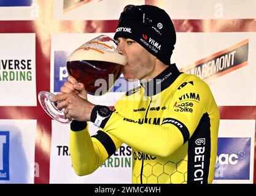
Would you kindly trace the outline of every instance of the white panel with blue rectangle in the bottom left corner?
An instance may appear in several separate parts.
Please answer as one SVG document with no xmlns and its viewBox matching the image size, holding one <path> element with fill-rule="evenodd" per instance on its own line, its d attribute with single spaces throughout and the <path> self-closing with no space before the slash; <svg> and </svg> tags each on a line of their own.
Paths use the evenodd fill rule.
<svg viewBox="0 0 256 196">
<path fill-rule="evenodd" d="M 36 120 L 0 119 L 0 183 L 34 183 L 35 141 Z"/>
</svg>

